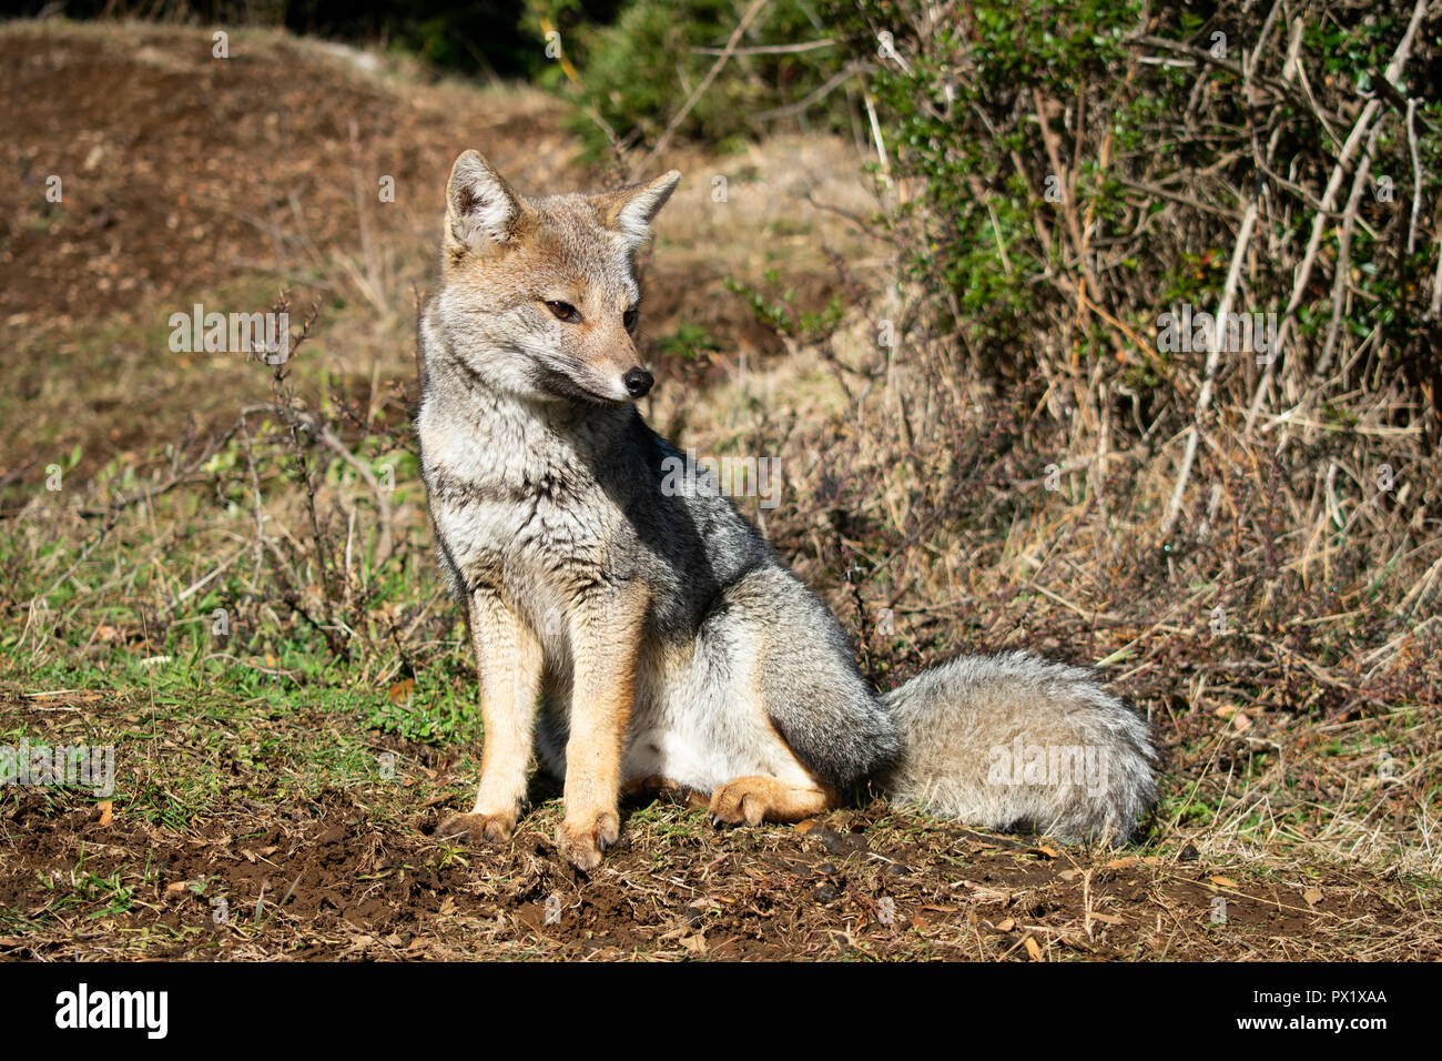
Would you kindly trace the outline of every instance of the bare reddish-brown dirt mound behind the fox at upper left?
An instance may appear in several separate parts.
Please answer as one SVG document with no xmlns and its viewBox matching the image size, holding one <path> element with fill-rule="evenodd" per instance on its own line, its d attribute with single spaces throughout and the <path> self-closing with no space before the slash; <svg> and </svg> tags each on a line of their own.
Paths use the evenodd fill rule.
<svg viewBox="0 0 1442 1061">
<path fill-rule="evenodd" d="M 183 303 L 273 256 L 324 256 L 355 238 L 358 196 L 378 201 L 382 176 L 398 202 L 438 211 L 461 143 L 528 176 L 557 169 L 557 108 L 539 95 L 457 105 L 274 33 L 232 36 L 229 58 L 193 30 L 117 33 L 0 33 L 0 179 L 20 189 L 0 217 L 12 325 Z"/>
</svg>

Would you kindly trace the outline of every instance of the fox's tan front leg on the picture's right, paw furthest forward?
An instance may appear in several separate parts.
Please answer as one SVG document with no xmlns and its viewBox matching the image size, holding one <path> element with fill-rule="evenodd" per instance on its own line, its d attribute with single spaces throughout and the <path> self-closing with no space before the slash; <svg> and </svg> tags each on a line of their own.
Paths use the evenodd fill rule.
<svg viewBox="0 0 1442 1061">
<path fill-rule="evenodd" d="M 565 818 L 557 847 L 596 869 L 620 837 L 622 742 L 636 699 L 636 664 L 649 595 L 640 583 L 590 589 L 571 612 L 571 735 L 565 745 Z"/>
</svg>

